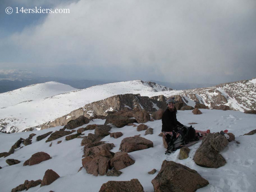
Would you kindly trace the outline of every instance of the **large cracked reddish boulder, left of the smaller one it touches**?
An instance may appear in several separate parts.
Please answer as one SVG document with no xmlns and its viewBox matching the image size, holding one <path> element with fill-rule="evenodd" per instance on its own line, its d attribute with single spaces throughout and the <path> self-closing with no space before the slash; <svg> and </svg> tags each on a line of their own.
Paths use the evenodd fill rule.
<svg viewBox="0 0 256 192">
<path fill-rule="evenodd" d="M 110 160 L 113 158 L 113 153 L 102 149 L 100 153 L 92 156 L 86 156 L 82 159 L 83 167 L 90 174 L 95 176 L 106 175 L 108 169 L 110 169 Z"/>
</svg>

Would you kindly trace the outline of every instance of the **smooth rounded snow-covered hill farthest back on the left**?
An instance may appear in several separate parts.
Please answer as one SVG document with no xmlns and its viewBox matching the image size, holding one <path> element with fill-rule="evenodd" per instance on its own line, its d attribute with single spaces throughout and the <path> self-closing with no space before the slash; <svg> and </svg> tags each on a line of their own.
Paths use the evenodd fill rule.
<svg viewBox="0 0 256 192">
<path fill-rule="evenodd" d="M 33 84 L 13 91 L 1 93 L 0 108 L 16 105 L 25 101 L 40 100 L 75 90 L 77 89 L 74 87 L 58 82 Z"/>
</svg>

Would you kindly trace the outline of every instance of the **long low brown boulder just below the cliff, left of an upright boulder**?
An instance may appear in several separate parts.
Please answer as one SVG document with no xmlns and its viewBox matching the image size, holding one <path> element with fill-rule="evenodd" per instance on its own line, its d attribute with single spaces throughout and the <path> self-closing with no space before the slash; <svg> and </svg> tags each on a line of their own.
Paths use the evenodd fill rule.
<svg viewBox="0 0 256 192">
<path fill-rule="evenodd" d="M 116 125 L 116 127 L 121 128 L 127 124 L 136 123 L 136 120 L 128 117 L 122 117 L 122 116 L 116 116 L 116 115 L 110 114 L 107 116 L 104 124 L 107 125 L 109 123 Z"/>
</svg>

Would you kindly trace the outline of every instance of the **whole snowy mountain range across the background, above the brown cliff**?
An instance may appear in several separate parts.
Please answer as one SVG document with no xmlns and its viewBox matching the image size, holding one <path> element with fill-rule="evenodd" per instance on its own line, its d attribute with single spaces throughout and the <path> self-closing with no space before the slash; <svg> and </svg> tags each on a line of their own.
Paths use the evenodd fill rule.
<svg viewBox="0 0 256 192">
<path fill-rule="evenodd" d="M 243 112 L 256 109 L 255 90 L 255 78 L 208 88 L 179 91 L 141 80 L 96 85 L 82 90 L 57 82 L 49 82 L 1 93 L 0 100 L 4 102 L 0 102 L 0 127 L 1 131 L 20 132 L 54 121 L 75 109 L 83 108 L 86 104 L 127 93 L 151 98 L 159 95 L 164 95 L 166 98 L 178 95 L 184 103 L 192 107 L 196 103 L 205 104 L 209 108 L 227 105 L 232 110 Z M 152 105 L 155 106 L 156 103 Z"/>
</svg>

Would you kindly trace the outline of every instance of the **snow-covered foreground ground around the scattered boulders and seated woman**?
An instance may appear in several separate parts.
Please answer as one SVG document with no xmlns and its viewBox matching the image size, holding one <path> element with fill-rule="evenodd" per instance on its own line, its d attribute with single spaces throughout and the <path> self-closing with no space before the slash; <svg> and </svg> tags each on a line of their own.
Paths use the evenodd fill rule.
<svg viewBox="0 0 256 192">
<path fill-rule="evenodd" d="M 256 129 L 255 115 L 244 114 L 238 111 L 222 111 L 213 109 L 200 109 L 202 115 L 194 115 L 191 110 L 178 111 L 178 120 L 185 125 L 195 122 L 193 125 L 198 130 L 210 129 L 211 132 L 219 132 L 221 130 L 228 129 L 228 132 L 232 132 L 236 136 L 236 142 L 229 142 L 228 146 L 220 152 L 220 154 L 226 159 L 227 164 L 218 169 L 204 168 L 196 165 L 193 161 L 194 152 L 199 147 L 199 143 L 189 147 L 191 149 L 189 158 L 185 160 L 179 160 L 179 150 L 170 155 L 164 155 L 164 147 L 162 144 L 162 138 L 158 136 L 161 132 L 161 120 L 155 120 L 154 122 L 145 123 L 148 127 L 154 129 L 153 135 L 144 135 L 145 131 L 138 132 L 136 127 L 125 126 L 123 128 L 116 128 L 112 125 L 110 132 L 123 132 L 123 136 L 114 139 L 106 136 L 104 141 L 114 143 L 114 147 L 111 151 L 119 151 L 121 140 L 125 137 L 134 135 L 141 135 L 154 143 L 153 148 L 144 149 L 140 151 L 134 151 L 129 153 L 132 159 L 135 160 L 135 164 L 126 167 L 120 171 L 123 173 L 119 177 L 98 176 L 95 177 L 88 174 L 83 168 L 80 172 L 77 172 L 82 166 L 83 147 L 80 146 L 82 139 L 74 139 L 66 141 L 65 137 L 52 141 L 52 147 L 49 147 L 50 142 L 45 143 L 44 140 L 36 141 L 36 136 L 42 135 L 49 131 L 59 130 L 63 126 L 54 127 L 41 131 L 33 132 L 19 132 L 12 134 L 4 134 L 0 132 L 0 152 L 8 152 L 11 146 L 20 137 L 26 139 L 31 133 L 36 133 L 36 136 L 32 139 L 32 144 L 18 148 L 14 154 L 0 158 L 0 186 L 1 191 L 10 192 L 12 188 L 23 184 L 25 180 L 37 180 L 43 179 L 44 172 L 47 169 L 52 169 L 60 175 L 60 178 L 54 181 L 51 185 L 43 187 L 30 188 L 28 192 L 49 192 L 52 191 L 92 191 L 97 192 L 103 183 L 109 180 L 116 181 L 130 181 L 131 179 L 138 179 L 142 184 L 145 192 L 153 192 L 153 180 L 157 173 L 160 171 L 161 164 L 164 160 L 175 161 L 180 164 L 184 164 L 191 169 L 196 170 L 204 179 L 209 181 L 209 185 L 198 189 L 197 192 L 253 192 L 256 191 L 255 182 L 255 170 L 256 170 L 256 134 L 252 136 L 240 136 L 244 133 L 248 133 Z M 104 124 L 105 120 L 96 119 L 89 124 Z M 82 126 L 85 127 L 86 125 Z M 75 130 L 77 130 L 76 128 Z M 84 134 L 94 133 L 94 130 L 85 131 Z M 58 141 L 62 140 L 60 144 Z M 21 144 L 22 146 L 22 144 Z M 52 159 L 44 161 L 40 164 L 32 166 L 23 166 L 25 160 L 31 157 L 36 152 L 46 152 Z M 8 166 L 5 163 L 7 158 L 18 159 L 20 164 Z M 157 172 L 154 175 L 149 175 L 148 172 L 152 169 L 156 169 Z"/>
</svg>

